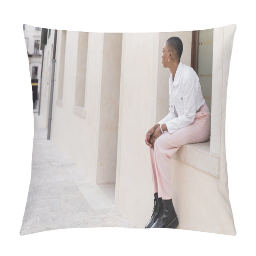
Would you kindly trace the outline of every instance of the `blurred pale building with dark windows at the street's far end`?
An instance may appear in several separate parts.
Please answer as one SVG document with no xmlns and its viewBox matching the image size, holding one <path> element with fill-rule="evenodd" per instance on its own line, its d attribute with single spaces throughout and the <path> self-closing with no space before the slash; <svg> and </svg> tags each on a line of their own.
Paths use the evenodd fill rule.
<svg viewBox="0 0 256 256">
<path fill-rule="evenodd" d="M 25 44 L 28 52 L 29 72 L 33 90 L 33 102 L 38 99 L 42 68 L 41 28 L 23 24 Z"/>
</svg>

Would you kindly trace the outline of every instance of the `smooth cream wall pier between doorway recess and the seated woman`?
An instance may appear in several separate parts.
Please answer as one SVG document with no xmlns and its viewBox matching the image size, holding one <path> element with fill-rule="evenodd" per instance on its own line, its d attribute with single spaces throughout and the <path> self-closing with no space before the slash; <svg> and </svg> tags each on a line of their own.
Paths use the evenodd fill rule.
<svg viewBox="0 0 256 256">
<path fill-rule="evenodd" d="M 157 57 L 152 53 L 157 53 L 157 39 L 154 33 L 123 36 L 116 203 L 139 227 L 145 211 L 152 211 L 149 148 L 144 138 L 151 125 L 151 91 L 156 87 L 153 66 Z M 156 104 L 156 100 L 152 102 Z"/>
</svg>

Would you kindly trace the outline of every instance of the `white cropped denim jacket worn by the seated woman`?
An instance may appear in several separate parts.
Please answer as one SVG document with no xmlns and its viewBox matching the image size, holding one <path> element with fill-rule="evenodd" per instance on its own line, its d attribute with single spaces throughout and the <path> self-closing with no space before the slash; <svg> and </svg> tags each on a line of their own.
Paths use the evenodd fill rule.
<svg viewBox="0 0 256 256">
<path fill-rule="evenodd" d="M 196 111 L 204 105 L 204 97 L 199 78 L 193 68 L 181 61 L 173 79 L 169 78 L 169 114 L 158 124 L 166 124 L 168 132 L 185 127 L 194 122 Z M 176 116 L 174 107 L 176 109 Z M 178 115 L 177 115 L 178 114 Z"/>
</svg>

